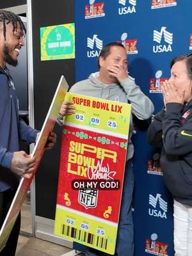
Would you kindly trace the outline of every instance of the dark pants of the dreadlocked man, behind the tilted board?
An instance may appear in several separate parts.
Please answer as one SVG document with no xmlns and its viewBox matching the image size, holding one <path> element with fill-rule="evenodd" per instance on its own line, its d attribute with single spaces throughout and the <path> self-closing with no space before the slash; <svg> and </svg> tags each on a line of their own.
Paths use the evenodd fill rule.
<svg viewBox="0 0 192 256">
<path fill-rule="evenodd" d="M 13 197 L 15 196 L 16 189 L 9 189 L 0 193 L 0 226 L 3 225 L 4 218 L 8 210 L 10 209 L 10 205 L 12 204 Z M 6 246 L 0 252 L 0 256 L 14 256 L 17 248 L 17 241 L 19 237 L 20 231 L 20 213 L 17 216 L 15 224 L 13 226 L 12 232 Z"/>
</svg>

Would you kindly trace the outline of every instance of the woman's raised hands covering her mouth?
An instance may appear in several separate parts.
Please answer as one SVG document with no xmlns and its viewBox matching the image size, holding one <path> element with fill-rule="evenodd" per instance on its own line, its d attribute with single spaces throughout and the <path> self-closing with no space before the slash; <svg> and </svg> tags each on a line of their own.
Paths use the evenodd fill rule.
<svg viewBox="0 0 192 256">
<path fill-rule="evenodd" d="M 170 102 L 184 104 L 185 91 L 182 88 L 178 90 L 173 84 L 166 80 L 163 82 L 161 90 L 163 92 L 164 106 Z"/>
</svg>

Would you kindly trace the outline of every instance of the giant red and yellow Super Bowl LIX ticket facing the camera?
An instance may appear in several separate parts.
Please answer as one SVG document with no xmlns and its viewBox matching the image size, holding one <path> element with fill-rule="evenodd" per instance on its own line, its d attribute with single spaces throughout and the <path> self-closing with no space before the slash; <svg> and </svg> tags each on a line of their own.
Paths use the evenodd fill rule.
<svg viewBox="0 0 192 256">
<path fill-rule="evenodd" d="M 131 105 L 67 93 L 54 233 L 115 252 Z"/>
</svg>

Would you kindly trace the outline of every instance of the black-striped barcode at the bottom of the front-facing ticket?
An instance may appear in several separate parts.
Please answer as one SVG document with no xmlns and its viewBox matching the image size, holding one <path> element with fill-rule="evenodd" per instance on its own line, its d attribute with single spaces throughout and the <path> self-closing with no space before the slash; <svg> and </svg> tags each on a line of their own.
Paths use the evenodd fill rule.
<svg viewBox="0 0 192 256">
<path fill-rule="evenodd" d="M 90 232 L 86 232 L 78 228 L 70 227 L 65 224 L 63 224 L 63 228 L 61 232 L 64 236 L 77 239 L 84 243 L 92 244 L 93 246 L 96 246 L 98 248 L 102 248 L 104 250 L 107 250 L 108 248 L 108 239 L 102 236 L 97 236 Z"/>
</svg>

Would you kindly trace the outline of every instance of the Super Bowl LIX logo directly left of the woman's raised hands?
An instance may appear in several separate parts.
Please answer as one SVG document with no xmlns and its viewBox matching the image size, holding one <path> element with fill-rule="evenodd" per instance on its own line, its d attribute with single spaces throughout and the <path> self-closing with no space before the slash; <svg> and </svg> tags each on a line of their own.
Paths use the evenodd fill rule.
<svg viewBox="0 0 192 256">
<path fill-rule="evenodd" d="M 156 78 L 150 78 L 150 93 L 161 93 L 161 85 L 165 80 L 168 80 L 168 78 L 161 77 L 163 75 L 162 70 L 157 70 L 155 77 Z"/>
</svg>

